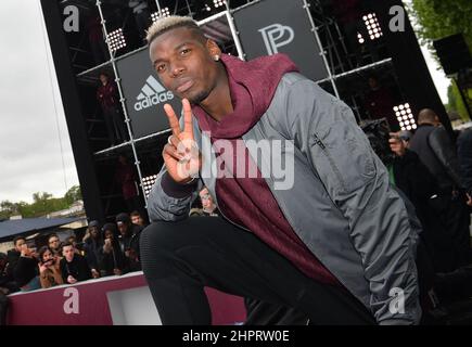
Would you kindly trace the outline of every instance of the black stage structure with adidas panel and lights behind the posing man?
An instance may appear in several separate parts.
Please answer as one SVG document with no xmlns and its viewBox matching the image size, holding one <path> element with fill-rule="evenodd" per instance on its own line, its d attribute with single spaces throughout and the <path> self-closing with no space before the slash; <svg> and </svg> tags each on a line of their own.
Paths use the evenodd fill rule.
<svg viewBox="0 0 472 347">
<path fill-rule="evenodd" d="M 397 129 L 414 130 L 414 115 L 428 106 L 450 129 L 408 17 L 405 31 L 388 29 L 390 9 L 403 9 L 399 0 L 359 0 L 355 9 L 335 0 L 143 3 L 138 15 L 128 1 L 41 0 L 85 206 L 92 219 L 112 220 L 129 209 L 116 179 L 119 155 L 128 156 L 136 168 L 142 209 L 163 165 L 161 152 L 169 129 L 162 105 L 180 110 L 180 101 L 153 70 L 142 26 L 170 14 L 192 16 L 225 53 L 240 59 L 288 54 L 304 75 L 353 107 L 359 123 L 383 116 Z M 63 29 L 68 7 L 79 11 L 78 31 Z M 97 101 L 101 73 L 116 83 L 128 137 L 115 145 Z M 377 87 L 373 81 L 369 87 L 371 79 Z M 375 105 L 379 90 L 387 91 L 380 99 L 383 108 Z"/>
</svg>

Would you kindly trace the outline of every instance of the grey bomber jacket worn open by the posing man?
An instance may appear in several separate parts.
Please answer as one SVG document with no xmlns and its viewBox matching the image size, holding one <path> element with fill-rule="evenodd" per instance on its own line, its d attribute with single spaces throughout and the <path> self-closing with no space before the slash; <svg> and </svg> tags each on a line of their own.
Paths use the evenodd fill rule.
<svg viewBox="0 0 472 347">
<path fill-rule="evenodd" d="M 199 146 L 211 147 L 195 117 L 193 126 Z M 409 218 L 350 108 L 301 74 L 289 73 L 242 138 L 259 171 L 269 172 L 265 179 L 293 230 L 378 323 L 418 324 L 414 257 L 421 227 Z M 270 170 L 278 158 L 257 151 L 260 140 L 284 143 L 282 156 L 293 158 L 291 179 L 282 182 Z M 179 197 L 162 189 L 163 178 L 169 179 L 164 165 L 148 198 L 152 221 L 188 218 L 203 184 L 218 202 L 215 153 L 202 156 L 199 184 Z"/>
</svg>

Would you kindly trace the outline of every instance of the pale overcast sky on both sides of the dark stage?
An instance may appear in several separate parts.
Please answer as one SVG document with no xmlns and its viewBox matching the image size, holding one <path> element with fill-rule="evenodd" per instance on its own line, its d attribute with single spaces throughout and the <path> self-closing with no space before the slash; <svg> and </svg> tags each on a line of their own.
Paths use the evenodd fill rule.
<svg viewBox="0 0 472 347">
<path fill-rule="evenodd" d="M 422 51 L 447 102 L 449 81 Z M 0 56 L 0 202 L 61 197 L 78 177 L 39 0 L 1 1 Z"/>
</svg>

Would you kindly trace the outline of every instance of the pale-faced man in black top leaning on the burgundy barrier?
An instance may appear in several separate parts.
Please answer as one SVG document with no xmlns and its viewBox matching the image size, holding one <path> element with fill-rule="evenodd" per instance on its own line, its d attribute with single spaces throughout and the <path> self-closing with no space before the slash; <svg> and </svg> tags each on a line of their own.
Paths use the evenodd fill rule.
<svg viewBox="0 0 472 347">
<path fill-rule="evenodd" d="M 86 258 L 75 253 L 73 244 L 64 243 L 62 254 L 64 258 L 61 259 L 60 266 L 64 283 L 74 284 L 92 278 Z"/>
</svg>

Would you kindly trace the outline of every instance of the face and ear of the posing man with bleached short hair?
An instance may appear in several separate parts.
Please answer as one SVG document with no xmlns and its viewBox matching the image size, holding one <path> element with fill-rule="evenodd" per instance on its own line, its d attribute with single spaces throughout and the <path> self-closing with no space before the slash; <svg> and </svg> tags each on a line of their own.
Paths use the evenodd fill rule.
<svg viewBox="0 0 472 347">
<path fill-rule="evenodd" d="M 163 85 L 193 104 L 216 87 L 218 65 L 213 55 L 220 53 L 216 43 L 203 42 L 186 27 L 162 34 L 150 46 L 151 62 Z"/>
</svg>

